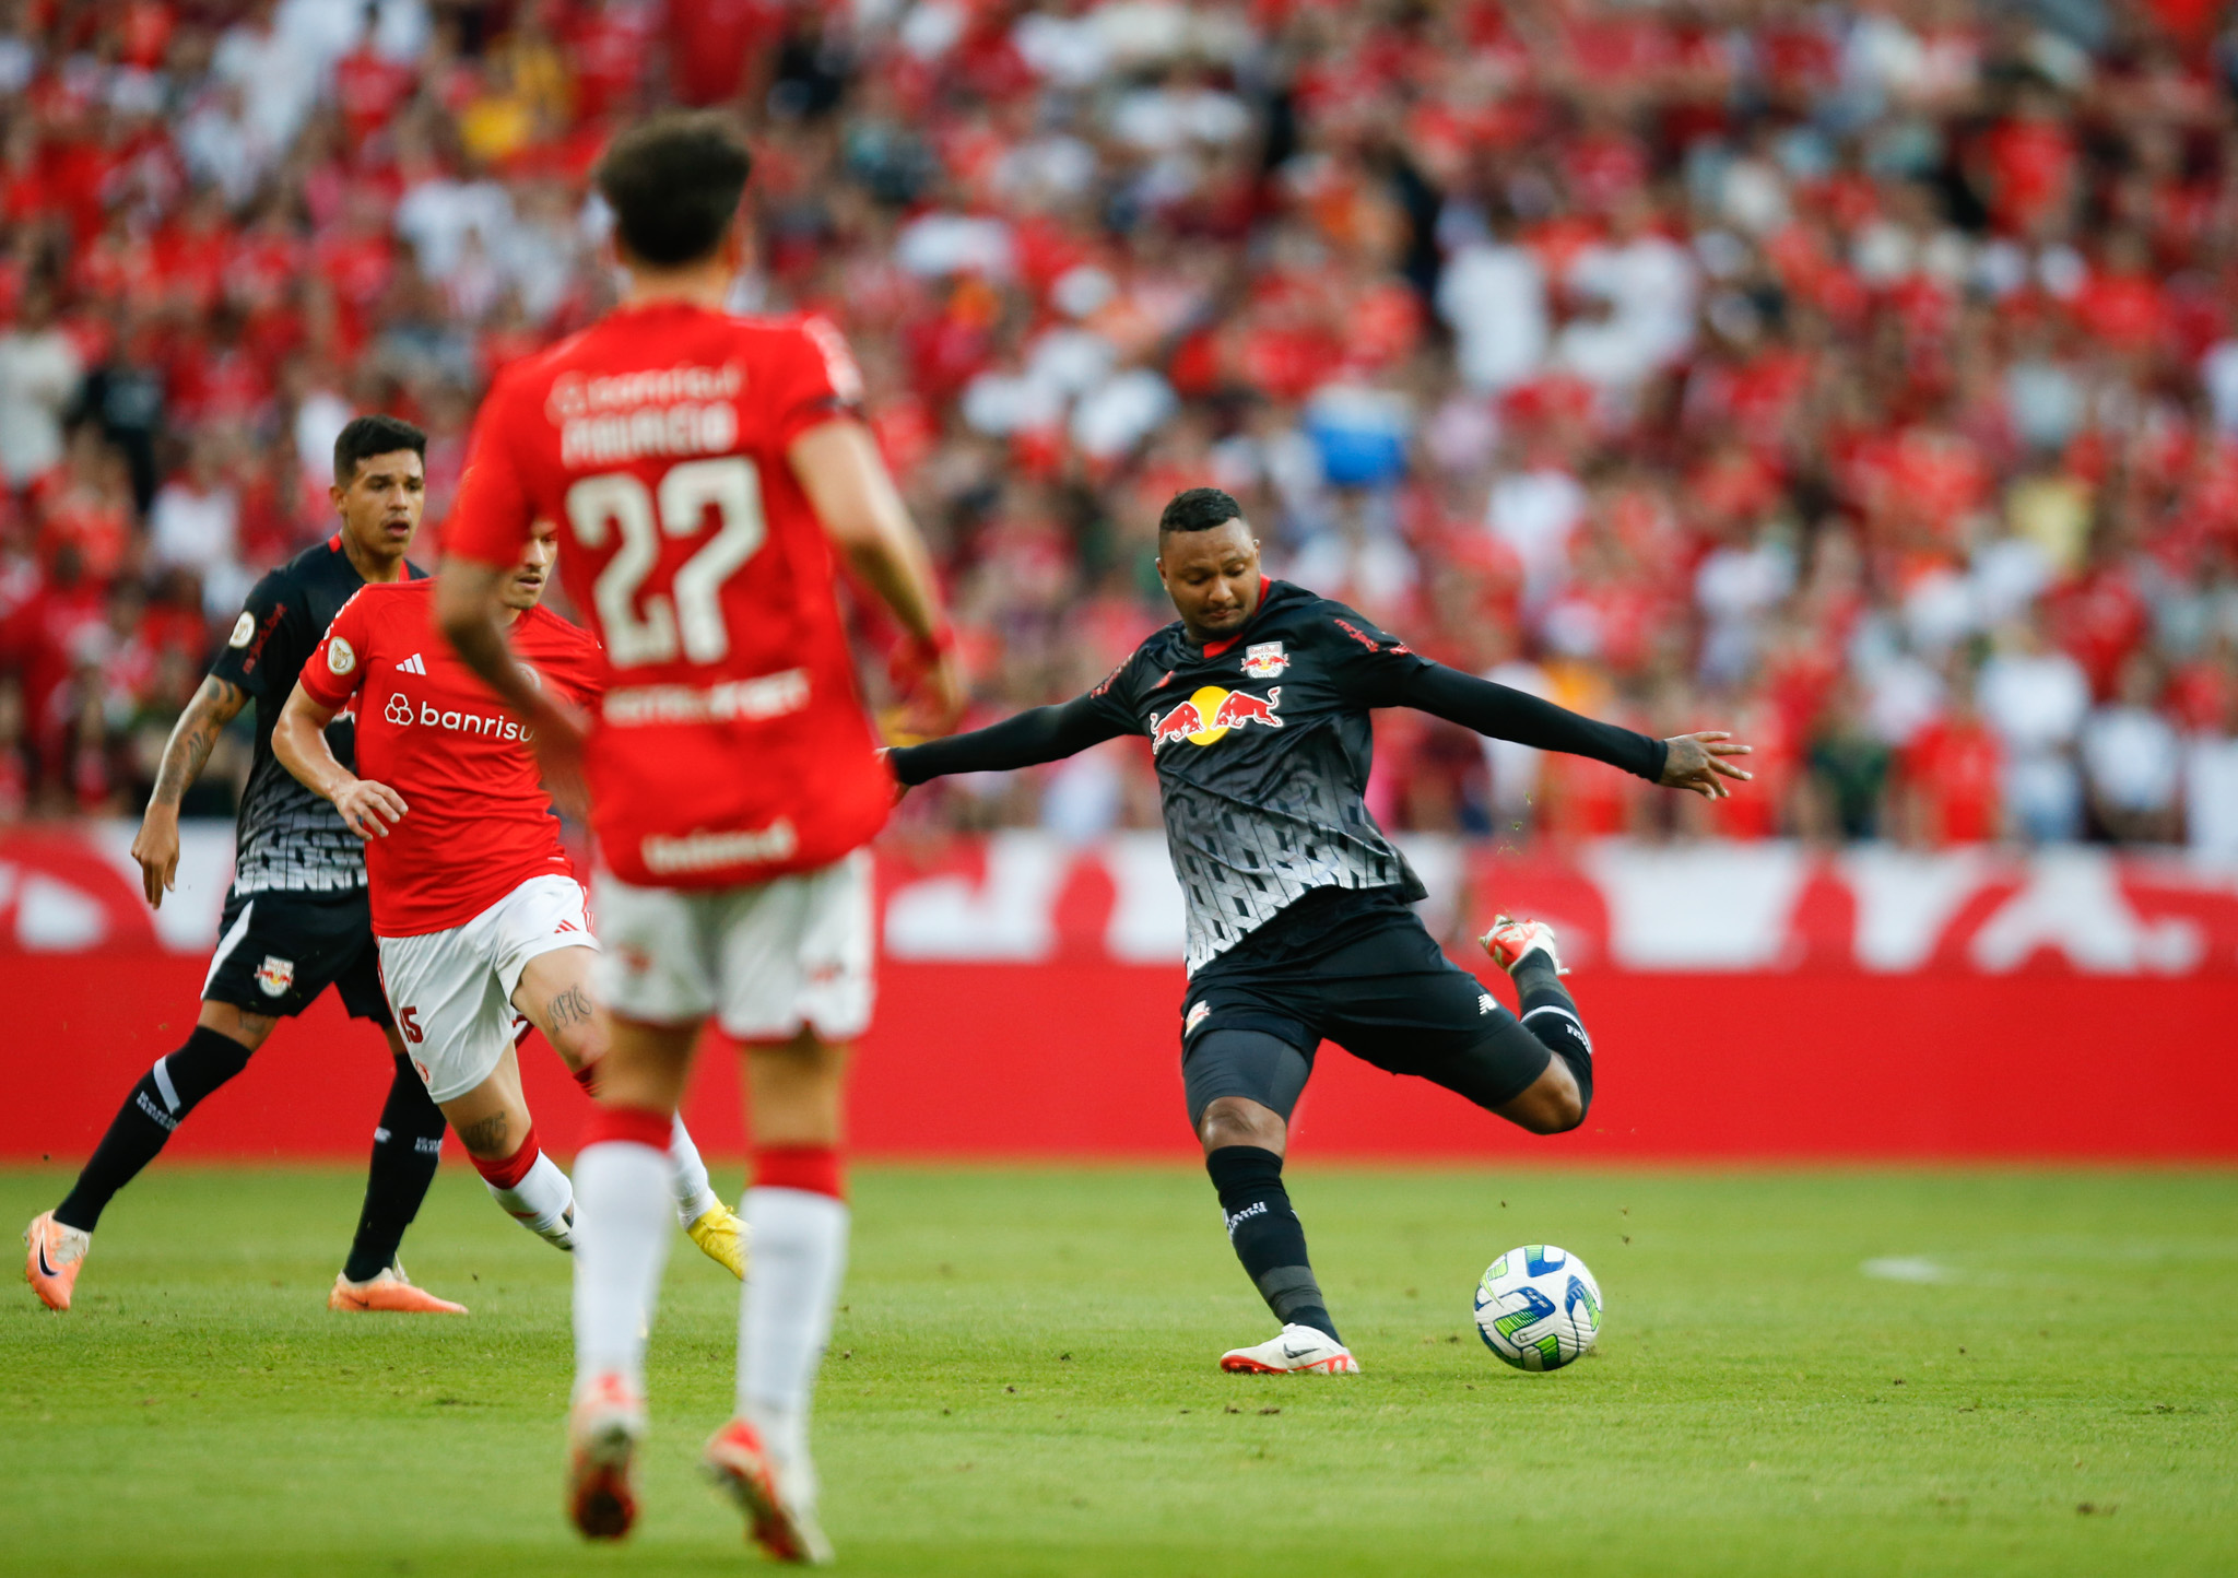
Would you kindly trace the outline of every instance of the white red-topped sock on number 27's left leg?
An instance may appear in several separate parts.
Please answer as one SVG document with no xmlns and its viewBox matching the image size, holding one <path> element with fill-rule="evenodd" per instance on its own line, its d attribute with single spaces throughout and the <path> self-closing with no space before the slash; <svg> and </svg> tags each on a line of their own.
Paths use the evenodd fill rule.
<svg viewBox="0 0 2238 1578">
<path fill-rule="evenodd" d="M 645 1390 L 645 1332 L 669 1260 L 669 1112 L 600 1108 L 575 1153 L 575 1379 Z"/>
</svg>

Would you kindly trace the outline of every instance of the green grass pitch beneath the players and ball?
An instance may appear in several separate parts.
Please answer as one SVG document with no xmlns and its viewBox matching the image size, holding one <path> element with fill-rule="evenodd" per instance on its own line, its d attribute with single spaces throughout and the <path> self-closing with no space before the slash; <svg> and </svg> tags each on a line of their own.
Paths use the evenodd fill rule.
<svg viewBox="0 0 2238 1578">
<path fill-rule="evenodd" d="M 0 1173 L 0 1220 L 60 1191 Z M 1356 1379 L 1213 1370 L 1271 1325 L 1193 1171 L 859 1168 L 815 1437 L 844 1569 L 2238 1571 L 2234 1173 L 1307 1157 L 1294 1193 Z M 560 1518 L 566 1260 L 445 1168 L 405 1258 L 474 1314 L 333 1316 L 356 1195 L 159 1164 L 78 1309 L 0 1300 L 0 1571 L 759 1567 L 692 1473 L 730 1406 L 727 1276 L 678 1236 L 645 1513 L 586 1549 Z M 1470 1325 L 1520 1242 L 1607 1294 L 1560 1374 Z"/>
</svg>

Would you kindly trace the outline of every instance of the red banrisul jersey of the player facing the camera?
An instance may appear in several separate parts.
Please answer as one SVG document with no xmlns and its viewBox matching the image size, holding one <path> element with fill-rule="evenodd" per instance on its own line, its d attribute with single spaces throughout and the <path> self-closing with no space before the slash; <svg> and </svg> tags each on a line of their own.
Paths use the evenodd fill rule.
<svg viewBox="0 0 2238 1578">
<path fill-rule="evenodd" d="M 302 665 L 318 705 L 358 698 L 358 777 L 405 801 L 403 821 L 365 842 L 383 938 L 463 927 L 528 877 L 573 871 L 528 734 L 434 627 L 432 589 L 360 589 Z M 508 640 L 539 683 L 582 705 L 598 698 L 598 642 L 557 613 L 530 609 Z"/>
</svg>

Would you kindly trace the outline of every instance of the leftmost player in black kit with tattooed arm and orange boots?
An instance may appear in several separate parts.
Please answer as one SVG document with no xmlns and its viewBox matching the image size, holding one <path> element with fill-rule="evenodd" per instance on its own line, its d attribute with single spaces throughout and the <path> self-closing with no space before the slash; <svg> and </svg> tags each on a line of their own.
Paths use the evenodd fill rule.
<svg viewBox="0 0 2238 1578">
<path fill-rule="evenodd" d="M 380 989 L 365 895 L 365 846 L 325 799 L 273 757 L 273 723 L 304 658 L 336 611 L 367 582 L 419 577 L 405 562 L 425 501 L 427 439 L 394 416 L 358 416 L 333 441 L 336 513 L 342 528 L 271 571 L 248 593 L 208 678 L 179 716 L 132 857 L 150 904 L 163 902 L 179 866 L 179 797 L 224 727 L 257 703 L 255 763 L 235 830 L 233 889 L 219 918 L 217 954 L 201 985 L 201 1012 L 186 1045 L 159 1056 L 125 1097 L 76 1186 L 25 1231 L 25 1276 L 51 1309 L 69 1309 L 94 1224 L 204 1097 L 239 1074 L 282 1018 L 333 987 L 354 1018 L 387 1034 L 394 1079 L 365 1180 L 365 1209 L 349 1260 L 327 1303 L 333 1309 L 466 1314 L 396 1269 L 396 1247 L 434 1182 L 443 1115 L 405 1056 Z M 327 739 L 351 759 L 356 723 L 338 718 Z"/>
</svg>

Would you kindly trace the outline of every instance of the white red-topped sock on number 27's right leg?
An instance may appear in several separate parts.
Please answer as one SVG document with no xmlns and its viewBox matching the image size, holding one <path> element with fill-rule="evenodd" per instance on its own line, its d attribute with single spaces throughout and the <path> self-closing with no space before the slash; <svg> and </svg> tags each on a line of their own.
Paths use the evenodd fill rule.
<svg viewBox="0 0 2238 1578">
<path fill-rule="evenodd" d="M 739 1296 L 739 1415 L 779 1462 L 803 1462 L 808 1397 L 846 1276 L 848 1209 L 833 1146 L 763 1146 L 745 1191 L 754 1274 Z"/>
</svg>

